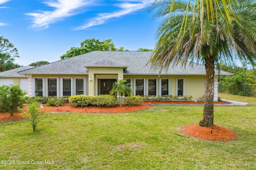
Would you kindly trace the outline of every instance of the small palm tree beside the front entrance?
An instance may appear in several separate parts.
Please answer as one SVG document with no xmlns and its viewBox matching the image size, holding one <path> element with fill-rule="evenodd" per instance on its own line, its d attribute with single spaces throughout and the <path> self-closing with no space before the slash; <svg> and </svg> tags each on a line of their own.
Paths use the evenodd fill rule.
<svg viewBox="0 0 256 170">
<path fill-rule="evenodd" d="M 131 96 L 132 95 L 132 89 L 130 88 L 130 83 L 126 83 L 127 80 L 118 80 L 116 79 L 116 82 L 110 91 L 110 94 L 119 96 L 120 106 L 122 106 L 122 96 Z"/>
</svg>

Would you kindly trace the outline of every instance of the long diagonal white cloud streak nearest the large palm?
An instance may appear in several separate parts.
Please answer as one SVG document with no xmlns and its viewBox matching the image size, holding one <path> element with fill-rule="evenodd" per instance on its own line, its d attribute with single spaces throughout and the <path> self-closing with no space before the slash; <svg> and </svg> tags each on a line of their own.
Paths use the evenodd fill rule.
<svg viewBox="0 0 256 170">
<path fill-rule="evenodd" d="M 145 8 L 150 3 L 152 3 L 152 0 L 142 0 L 142 1 L 126 0 L 126 1 L 124 1 L 124 3 L 116 4 L 116 6 L 118 6 L 119 8 L 122 8 L 122 10 L 120 10 L 118 12 L 113 12 L 113 13 L 100 13 L 100 14 L 98 14 L 98 17 L 93 18 L 88 23 L 86 23 L 80 27 L 76 27 L 75 29 L 76 30 L 87 29 L 94 25 L 101 25 L 111 18 L 118 18 L 118 17 L 124 16 L 126 14 L 131 14 L 132 12 L 135 12 L 142 8 Z"/>
</svg>

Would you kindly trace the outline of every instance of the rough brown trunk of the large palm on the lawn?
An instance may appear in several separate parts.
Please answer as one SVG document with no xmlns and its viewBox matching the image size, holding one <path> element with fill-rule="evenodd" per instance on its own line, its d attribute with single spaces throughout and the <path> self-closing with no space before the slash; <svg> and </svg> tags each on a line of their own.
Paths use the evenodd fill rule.
<svg viewBox="0 0 256 170">
<path fill-rule="evenodd" d="M 214 119 L 214 59 L 205 60 L 206 82 L 204 94 L 204 114 L 199 125 L 203 127 L 213 126 Z"/>
</svg>

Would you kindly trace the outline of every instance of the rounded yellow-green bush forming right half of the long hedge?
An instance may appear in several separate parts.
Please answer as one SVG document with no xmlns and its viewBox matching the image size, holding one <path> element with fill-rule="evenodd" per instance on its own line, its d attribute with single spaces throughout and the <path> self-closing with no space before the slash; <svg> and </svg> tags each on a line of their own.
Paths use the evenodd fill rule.
<svg viewBox="0 0 256 170">
<path fill-rule="evenodd" d="M 115 106 L 116 105 L 116 97 L 112 95 L 100 95 L 95 97 L 95 105 L 96 106 Z"/>
</svg>

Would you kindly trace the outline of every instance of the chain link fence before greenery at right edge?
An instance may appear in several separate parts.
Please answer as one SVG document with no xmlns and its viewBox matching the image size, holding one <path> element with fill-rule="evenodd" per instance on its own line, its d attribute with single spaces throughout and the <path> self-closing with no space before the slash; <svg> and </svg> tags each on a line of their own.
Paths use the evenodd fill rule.
<svg viewBox="0 0 256 170">
<path fill-rule="evenodd" d="M 256 84 L 222 84 L 218 83 L 218 93 L 256 97 Z"/>
</svg>

